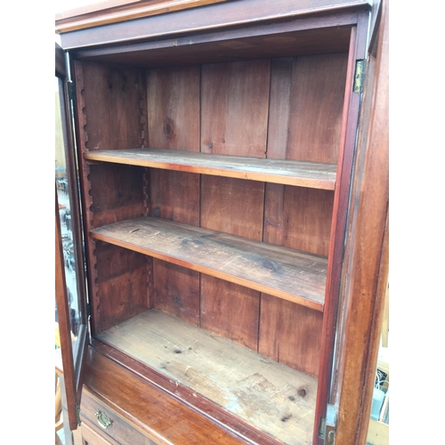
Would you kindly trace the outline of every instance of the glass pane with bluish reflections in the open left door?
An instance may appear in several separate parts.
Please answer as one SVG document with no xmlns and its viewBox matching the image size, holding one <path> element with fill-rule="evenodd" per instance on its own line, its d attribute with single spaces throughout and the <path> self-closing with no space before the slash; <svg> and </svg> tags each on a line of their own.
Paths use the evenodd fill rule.
<svg viewBox="0 0 445 445">
<path fill-rule="evenodd" d="M 79 297 L 77 292 L 75 239 L 71 224 L 71 188 L 67 157 L 67 132 L 64 125 L 63 89 L 60 78 L 55 77 L 55 182 L 57 199 L 59 202 L 59 217 L 61 222 L 61 241 L 63 246 L 63 258 L 65 264 L 65 279 L 69 301 L 69 323 L 73 346 L 74 360 L 77 357 L 77 335 L 80 326 Z M 57 308 L 55 320 L 58 321 Z"/>
</svg>

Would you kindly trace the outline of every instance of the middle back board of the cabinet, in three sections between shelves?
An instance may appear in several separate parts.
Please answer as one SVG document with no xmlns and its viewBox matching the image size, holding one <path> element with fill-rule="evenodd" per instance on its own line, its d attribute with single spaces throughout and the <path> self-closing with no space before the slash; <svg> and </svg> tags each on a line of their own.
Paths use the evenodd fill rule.
<svg viewBox="0 0 445 445">
<path fill-rule="evenodd" d="M 265 157 L 270 61 L 202 67 L 201 151 Z M 262 239 L 264 183 L 202 176 L 201 227 Z M 201 327 L 257 350 L 259 293 L 205 275 Z M 226 311 L 231 306 L 231 311 Z M 249 314 L 246 317 L 246 314 Z"/>
</svg>

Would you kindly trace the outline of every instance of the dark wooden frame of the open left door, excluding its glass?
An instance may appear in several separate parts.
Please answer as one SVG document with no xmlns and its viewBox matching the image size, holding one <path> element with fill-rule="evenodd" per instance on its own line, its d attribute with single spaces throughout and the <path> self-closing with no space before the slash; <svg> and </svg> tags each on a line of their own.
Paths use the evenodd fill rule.
<svg viewBox="0 0 445 445">
<path fill-rule="evenodd" d="M 87 344 L 89 339 L 88 316 L 86 312 L 85 288 L 85 260 L 82 242 L 82 225 L 78 196 L 78 175 L 75 155 L 75 140 L 72 129 L 73 116 L 71 99 L 69 98 L 69 85 L 67 77 L 65 54 L 56 44 L 55 48 L 55 75 L 61 83 L 60 106 L 61 126 L 63 134 L 65 173 L 68 182 L 66 190 L 69 202 L 69 230 L 72 237 L 72 256 L 75 269 L 75 298 L 76 298 L 76 328 L 73 332 L 72 305 L 69 301 L 69 286 L 67 281 L 67 256 L 64 254 L 61 231 L 61 217 L 57 188 L 55 190 L 55 297 L 57 304 L 57 317 L 59 322 L 59 335 L 61 341 L 61 365 L 58 369 L 63 375 L 65 388 L 65 401 L 68 410 L 69 428 L 75 430 L 79 424 L 78 411 L 82 396 L 82 377 L 85 368 Z M 68 227 L 68 223 L 67 223 Z M 69 270 L 71 270 L 69 268 Z M 72 295 L 71 295 L 72 296 Z M 76 342 L 76 348 L 73 347 Z"/>
</svg>

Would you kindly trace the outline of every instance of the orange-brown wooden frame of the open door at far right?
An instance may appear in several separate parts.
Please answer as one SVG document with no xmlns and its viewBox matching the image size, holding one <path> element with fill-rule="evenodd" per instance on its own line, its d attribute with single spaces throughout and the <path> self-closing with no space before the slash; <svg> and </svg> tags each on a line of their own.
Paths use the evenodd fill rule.
<svg viewBox="0 0 445 445">
<path fill-rule="evenodd" d="M 378 19 L 378 34 L 371 39 L 376 46 L 371 46 L 368 56 L 369 71 L 375 75 L 368 77 L 364 100 L 370 106 L 365 103 L 360 119 L 343 271 L 343 328 L 337 344 L 339 366 L 332 394 L 337 408 L 336 443 L 366 443 L 388 283 L 387 0 L 382 0 Z"/>
</svg>

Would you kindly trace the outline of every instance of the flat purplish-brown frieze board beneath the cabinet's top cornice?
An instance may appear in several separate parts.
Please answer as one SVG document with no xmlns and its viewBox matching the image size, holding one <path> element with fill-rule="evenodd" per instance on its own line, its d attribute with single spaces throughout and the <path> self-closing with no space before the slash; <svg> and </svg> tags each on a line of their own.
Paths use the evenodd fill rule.
<svg viewBox="0 0 445 445">
<path fill-rule="evenodd" d="M 278 11 L 276 4 L 269 0 L 243 0 L 242 2 L 210 5 L 206 8 L 192 8 L 184 12 L 161 14 L 133 20 L 133 23 L 132 21 L 130 23 L 111 23 L 105 27 L 79 29 L 77 32 L 62 34 L 61 37 L 64 48 L 82 48 L 103 43 L 116 44 L 119 42 L 123 44 L 135 38 L 143 41 L 160 36 L 178 36 L 186 31 L 193 35 L 228 27 L 242 28 L 251 25 L 253 20 L 260 23 L 274 22 L 293 18 L 300 19 L 308 15 L 318 15 L 313 28 L 319 28 L 324 24 L 323 15 L 328 15 L 329 11 L 352 12 L 351 22 L 354 23 L 356 14 L 353 12 L 366 8 L 368 8 L 368 2 L 364 0 L 347 0 L 340 7 L 332 0 L 303 0 L 298 5 L 295 5 L 293 0 L 281 0 Z M 278 30 L 275 30 L 276 32 Z M 326 38 L 323 41 L 325 44 L 329 44 L 326 43 Z"/>
</svg>

